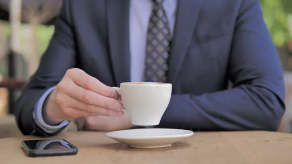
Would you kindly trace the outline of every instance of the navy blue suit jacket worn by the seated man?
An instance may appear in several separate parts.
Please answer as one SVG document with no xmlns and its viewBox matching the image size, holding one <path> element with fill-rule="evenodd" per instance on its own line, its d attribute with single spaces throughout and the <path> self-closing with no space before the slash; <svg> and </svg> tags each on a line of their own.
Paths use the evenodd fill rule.
<svg viewBox="0 0 292 164">
<path fill-rule="evenodd" d="M 24 134 L 47 135 L 33 119 L 34 105 L 74 67 L 109 86 L 130 81 L 129 0 L 64 1 L 49 48 L 17 101 Z M 259 0 L 178 0 L 167 82 L 173 94 L 159 127 L 277 130 L 283 73 Z"/>
</svg>

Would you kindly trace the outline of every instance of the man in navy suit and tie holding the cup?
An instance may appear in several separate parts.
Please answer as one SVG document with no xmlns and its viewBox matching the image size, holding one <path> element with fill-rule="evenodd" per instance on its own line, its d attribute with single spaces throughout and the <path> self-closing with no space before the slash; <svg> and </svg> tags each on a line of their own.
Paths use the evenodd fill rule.
<svg viewBox="0 0 292 164">
<path fill-rule="evenodd" d="M 281 63 L 259 0 L 65 0 L 17 101 L 23 134 L 131 128 L 121 82 L 170 82 L 157 127 L 277 130 Z M 229 81 L 233 84 L 228 87 Z"/>
</svg>

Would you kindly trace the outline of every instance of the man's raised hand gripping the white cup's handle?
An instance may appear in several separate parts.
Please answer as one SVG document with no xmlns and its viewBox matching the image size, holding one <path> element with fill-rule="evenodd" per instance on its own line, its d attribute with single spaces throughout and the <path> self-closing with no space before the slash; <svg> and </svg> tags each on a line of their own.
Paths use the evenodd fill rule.
<svg viewBox="0 0 292 164">
<path fill-rule="evenodd" d="M 45 114 L 50 122 L 59 123 L 86 116 L 123 116 L 118 93 L 109 86 L 74 68 L 50 94 Z"/>
</svg>

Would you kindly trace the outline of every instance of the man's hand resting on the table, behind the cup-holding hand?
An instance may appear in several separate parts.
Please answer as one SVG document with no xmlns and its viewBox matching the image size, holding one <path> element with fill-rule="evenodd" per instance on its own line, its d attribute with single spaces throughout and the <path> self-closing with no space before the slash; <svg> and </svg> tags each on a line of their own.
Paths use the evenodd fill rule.
<svg viewBox="0 0 292 164">
<path fill-rule="evenodd" d="M 78 130 L 115 131 L 134 127 L 130 118 L 126 114 L 122 117 L 81 117 L 75 119 L 74 122 L 76 123 Z"/>
</svg>

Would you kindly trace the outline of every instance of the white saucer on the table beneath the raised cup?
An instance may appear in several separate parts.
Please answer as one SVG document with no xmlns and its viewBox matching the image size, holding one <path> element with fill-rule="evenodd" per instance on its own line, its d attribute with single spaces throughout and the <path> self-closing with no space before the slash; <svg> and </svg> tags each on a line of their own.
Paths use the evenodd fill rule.
<svg viewBox="0 0 292 164">
<path fill-rule="evenodd" d="M 162 148 L 193 134 L 190 130 L 145 128 L 112 131 L 106 133 L 106 136 L 133 148 Z"/>
</svg>

